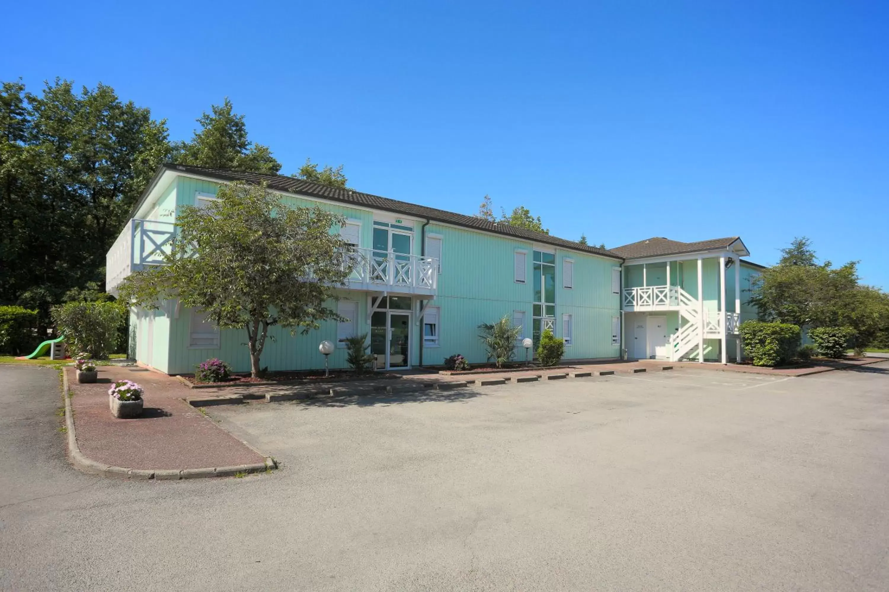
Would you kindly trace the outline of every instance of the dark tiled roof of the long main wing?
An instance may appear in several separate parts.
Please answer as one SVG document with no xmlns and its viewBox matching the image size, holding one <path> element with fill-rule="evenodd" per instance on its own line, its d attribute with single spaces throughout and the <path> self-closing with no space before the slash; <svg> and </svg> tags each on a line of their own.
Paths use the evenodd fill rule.
<svg viewBox="0 0 889 592">
<path fill-rule="evenodd" d="M 275 189 L 276 191 L 282 191 L 285 193 L 299 193 L 300 195 L 308 195 L 325 200 L 342 201 L 354 204 L 356 206 L 364 206 L 366 208 L 373 209 L 383 209 L 398 214 L 428 218 L 429 220 L 434 220 L 436 222 L 445 222 L 447 224 L 465 226 L 467 228 L 475 228 L 477 230 L 484 230 L 489 233 L 503 234 L 506 236 L 515 237 L 517 239 L 524 239 L 525 241 L 542 242 L 554 247 L 563 247 L 565 249 L 584 251 L 587 253 L 593 253 L 595 255 L 601 255 L 603 257 L 612 257 L 614 259 L 623 258 L 621 257 L 621 255 L 616 254 L 616 252 L 612 250 L 599 249 L 597 247 L 590 247 L 589 245 L 581 245 L 581 243 L 579 242 L 566 241 L 565 239 L 560 239 L 549 234 L 535 233 L 530 230 L 525 230 L 524 228 L 517 228 L 516 226 L 495 224 L 493 222 L 488 222 L 487 220 L 480 217 L 465 216 L 463 214 L 456 214 L 454 212 L 445 211 L 444 209 L 427 208 L 426 206 L 420 206 L 415 203 L 408 203 L 407 201 L 390 200 L 386 197 L 380 197 L 379 195 L 372 195 L 371 193 L 361 193 L 359 191 L 353 191 L 351 189 L 340 189 L 338 187 L 319 185 L 317 183 L 312 183 L 310 181 L 305 181 L 299 178 L 284 177 L 284 175 L 250 173 L 225 169 L 211 169 L 207 167 L 196 167 L 183 164 L 164 164 L 162 165 L 162 167 L 166 170 L 178 170 L 186 174 L 191 173 L 194 175 L 200 175 L 202 177 L 219 179 L 220 181 L 244 181 L 247 183 L 256 184 L 267 183 L 269 189 Z M 139 205 L 140 204 L 137 204 L 137 209 Z"/>
</svg>

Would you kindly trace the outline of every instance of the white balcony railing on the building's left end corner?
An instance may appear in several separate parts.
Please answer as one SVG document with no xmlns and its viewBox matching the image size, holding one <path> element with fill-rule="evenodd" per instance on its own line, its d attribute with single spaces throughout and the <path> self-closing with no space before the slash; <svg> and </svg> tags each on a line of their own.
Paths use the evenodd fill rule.
<svg viewBox="0 0 889 592">
<path fill-rule="evenodd" d="M 117 295 L 117 288 L 132 272 L 146 265 L 164 263 L 164 255 L 172 248 L 176 226 L 172 222 L 133 218 L 117 235 L 105 256 L 105 289 Z"/>
</svg>

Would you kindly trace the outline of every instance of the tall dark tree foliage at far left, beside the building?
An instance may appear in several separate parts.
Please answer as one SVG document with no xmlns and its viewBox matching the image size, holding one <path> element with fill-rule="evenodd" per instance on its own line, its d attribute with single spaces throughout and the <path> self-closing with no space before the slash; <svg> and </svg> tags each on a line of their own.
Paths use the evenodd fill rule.
<svg viewBox="0 0 889 592">
<path fill-rule="evenodd" d="M 38 311 L 104 281 L 105 253 L 157 166 L 166 122 L 111 87 L 0 88 L 0 302 Z"/>
</svg>

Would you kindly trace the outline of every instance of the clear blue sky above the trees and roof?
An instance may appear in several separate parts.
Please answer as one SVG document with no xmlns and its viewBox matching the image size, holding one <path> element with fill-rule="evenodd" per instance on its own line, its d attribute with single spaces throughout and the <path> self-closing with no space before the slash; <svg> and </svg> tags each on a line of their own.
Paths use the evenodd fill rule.
<svg viewBox="0 0 889 592">
<path fill-rule="evenodd" d="M 889 288 L 889 4 L 259 4 L 12 4 L 0 79 L 110 84 L 174 139 L 228 96 L 284 174 L 609 247 L 805 234 Z"/>
</svg>

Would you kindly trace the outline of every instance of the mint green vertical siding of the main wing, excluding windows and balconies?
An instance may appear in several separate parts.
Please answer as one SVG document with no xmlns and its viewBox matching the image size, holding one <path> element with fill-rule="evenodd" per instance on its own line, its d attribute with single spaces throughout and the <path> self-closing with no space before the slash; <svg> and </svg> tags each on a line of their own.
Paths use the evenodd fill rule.
<svg viewBox="0 0 889 592">
<path fill-rule="evenodd" d="M 160 217 L 164 211 L 172 213 L 183 205 L 195 205 L 196 193 L 215 195 L 218 185 L 194 178 L 179 177 L 150 211 Z M 284 196 L 291 206 L 314 206 L 318 202 Z M 339 204 L 321 203 L 321 207 L 361 222 L 360 246 L 372 247 L 373 213 Z M 396 215 L 389 215 L 396 216 Z M 159 219 L 170 219 L 162 217 Z M 406 222 L 406 220 L 405 220 Z M 422 246 L 422 222 L 414 222 L 413 252 L 419 254 Z M 440 307 L 439 346 L 422 345 L 422 328 L 416 308 L 412 311 L 411 363 L 419 363 L 420 347 L 423 347 L 423 363 L 439 365 L 453 353 L 461 353 L 470 362 L 484 362 L 485 349 L 478 339 L 477 326 L 493 323 L 504 315 L 512 318 L 513 312 L 525 311 L 530 336 L 533 314 L 533 244 L 493 234 L 477 233 L 434 223 L 426 226 L 426 233 L 442 236 L 442 273 L 438 280 L 438 294 L 430 305 Z M 516 249 L 527 251 L 527 281 L 515 281 L 513 264 Z M 574 286 L 564 288 L 563 261 L 573 259 Z M 573 344 L 565 348 L 565 359 L 617 358 L 620 346 L 611 343 L 612 317 L 620 315 L 620 295 L 612 294 L 611 270 L 619 262 L 578 252 L 557 249 L 556 252 L 556 335 L 562 335 L 562 315 L 573 315 Z M 375 293 L 379 294 L 379 293 Z M 370 332 L 367 315 L 367 292 L 343 290 L 339 296 L 358 303 L 358 331 Z M 419 297 L 418 297 L 419 299 Z M 218 348 L 189 347 L 191 314 L 182 308 L 178 316 L 175 304 L 154 314 L 154 347 L 150 355 L 147 322 L 152 312 L 139 311 L 135 322 L 139 331 L 137 351 L 140 361 L 150 363 L 168 374 L 188 374 L 205 359 L 220 358 L 237 371 L 250 367 L 245 329 L 220 331 Z M 307 335 L 291 335 L 289 329 L 272 327 L 262 354 L 261 364 L 271 370 L 305 369 L 324 367 L 324 356 L 317 351 L 318 343 L 327 339 L 336 342 L 337 325 L 322 323 L 321 328 Z M 523 359 L 525 351 L 517 348 L 517 359 Z M 331 367 L 346 367 L 346 351 L 343 348 L 331 355 Z"/>
</svg>

